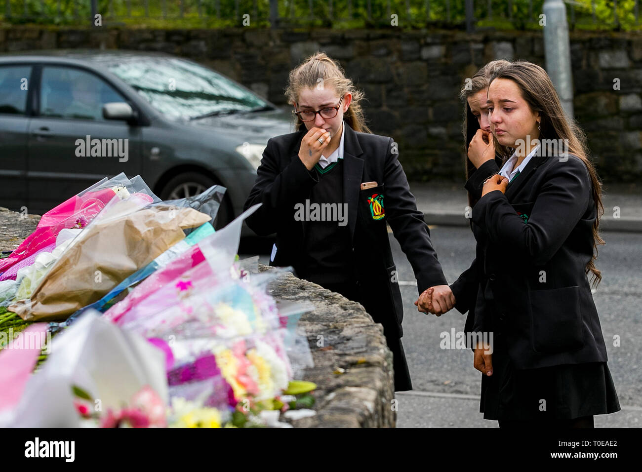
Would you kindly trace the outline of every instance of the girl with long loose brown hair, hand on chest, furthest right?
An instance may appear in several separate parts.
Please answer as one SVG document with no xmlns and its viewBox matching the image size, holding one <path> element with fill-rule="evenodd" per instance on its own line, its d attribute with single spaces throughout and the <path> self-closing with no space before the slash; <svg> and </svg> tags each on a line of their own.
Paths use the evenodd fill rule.
<svg viewBox="0 0 642 472">
<path fill-rule="evenodd" d="M 602 278 L 600 180 L 544 69 L 502 67 L 487 104 L 494 139 L 515 152 L 474 184 L 483 279 L 472 330 L 494 335 L 492 349 L 474 353 L 480 411 L 500 427 L 593 427 L 594 415 L 620 410 L 588 277 Z"/>
</svg>

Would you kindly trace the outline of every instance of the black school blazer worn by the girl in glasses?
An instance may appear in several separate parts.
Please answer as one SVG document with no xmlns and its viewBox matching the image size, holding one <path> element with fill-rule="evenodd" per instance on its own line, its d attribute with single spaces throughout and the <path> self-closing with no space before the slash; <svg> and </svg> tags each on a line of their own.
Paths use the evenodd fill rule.
<svg viewBox="0 0 642 472">
<path fill-rule="evenodd" d="M 277 252 L 270 265 L 300 270 L 302 223 L 294 219 L 295 204 L 304 203 L 319 181 L 299 159 L 301 140 L 308 130 L 273 137 L 263 152 L 254 187 L 244 208 L 263 203 L 247 218 L 259 235 L 276 233 Z M 408 256 L 419 293 L 433 285 L 446 284 L 423 214 L 417 210 L 406 174 L 397 160 L 393 139 L 352 130 L 343 121 L 343 202 L 347 203 L 354 276 L 363 305 L 375 322 L 388 330 L 403 329 L 403 302 L 392 259 L 386 222 Z M 361 190 L 362 182 L 377 182 Z M 383 194 L 385 216 L 374 220 L 368 198 Z"/>
</svg>

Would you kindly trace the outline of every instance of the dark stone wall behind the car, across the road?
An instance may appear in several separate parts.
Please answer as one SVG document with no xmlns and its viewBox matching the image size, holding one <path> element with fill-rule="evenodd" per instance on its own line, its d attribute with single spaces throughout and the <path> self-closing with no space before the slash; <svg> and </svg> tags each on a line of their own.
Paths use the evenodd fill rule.
<svg viewBox="0 0 642 472">
<path fill-rule="evenodd" d="M 385 30 L 0 30 L 1 51 L 55 48 L 164 51 L 238 80 L 286 110 L 288 72 L 315 51 L 339 60 L 365 91 L 365 116 L 377 134 L 399 143 L 415 180 L 460 182 L 465 78 L 494 58 L 544 66 L 541 31 Z M 573 32 L 575 116 L 603 180 L 642 177 L 642 35 Z M 619 79 L 619 90 L 614 80 Z"/>
</svg>

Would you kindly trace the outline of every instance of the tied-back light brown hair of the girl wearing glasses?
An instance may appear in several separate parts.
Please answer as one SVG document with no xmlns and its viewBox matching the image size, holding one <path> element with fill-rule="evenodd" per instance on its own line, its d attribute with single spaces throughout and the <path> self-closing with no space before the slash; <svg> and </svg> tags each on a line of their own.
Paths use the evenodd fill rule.
<svg viewBox="0 0 642 472">
<path fill-rule="evenodd" d="M 325 53 L 317 52 L 311 55 L 290 71 L 288 85 L 285 89 L 288 103 L 291 105 L 298 103 L 299 92 L 304 88 L 317 87 L 320 80 L 322 80 L 324 87 L 333 87 L 339 96 L 343 96 L 347 92 L 352 94 L 352 101 L 343 114 L 343 120 L 355 131 L 372 133 L 370 128 L 365 125 L 363 109 L 361 109 L 363 92 L 358 90 L 352 80 L 345 76 L 343 67 Z M 295 130 L 299 131 L 302 127 L 305 128 L 303 121 L 295 115 Z"/>
</svg>

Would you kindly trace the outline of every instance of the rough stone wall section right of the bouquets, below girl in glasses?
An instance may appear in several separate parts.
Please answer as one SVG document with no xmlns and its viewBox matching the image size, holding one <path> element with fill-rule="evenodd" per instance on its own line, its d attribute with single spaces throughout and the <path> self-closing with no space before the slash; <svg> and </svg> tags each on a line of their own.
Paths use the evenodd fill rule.
<svg viewBox="0 0 642 472">
<path fill-rule="evenodd" d="M 259 265 L 259 270 L 270 267 Z M 299 326 L 308 335 L 315 366 L 304 380 L 317 384 L 315 416 L 292 421 L 297 428 L 389 428 L 396 422 L 392 351 L 383 326 L 361 304 L 292 274 L 268 286 L 277 301 L 309 301 Z"/>
</svg>

